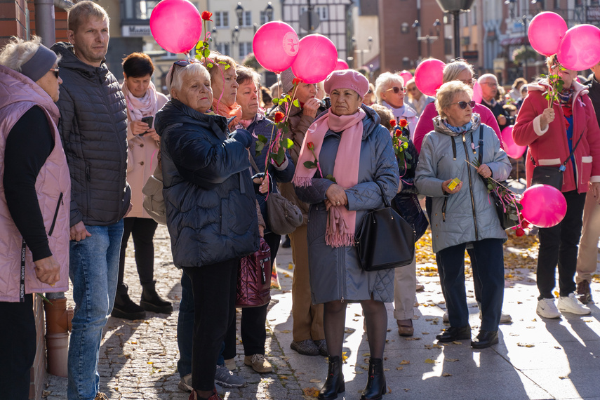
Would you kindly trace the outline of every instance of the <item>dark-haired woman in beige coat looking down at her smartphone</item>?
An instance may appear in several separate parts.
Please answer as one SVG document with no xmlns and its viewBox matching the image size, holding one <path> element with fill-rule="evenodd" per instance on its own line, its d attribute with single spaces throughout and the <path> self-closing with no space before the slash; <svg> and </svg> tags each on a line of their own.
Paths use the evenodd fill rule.
<svg viewBox="0 0 600 400">
<path fill-rule="evenodd" d="M 156 168 L 160 136 L 154 131 L 154 115 L 168 101 L 166 95 L 156 91 L 151 78 L 154 72 L 152 60 L 144 53 L 132 53 L 123 60 L 124 81 L 121 90 L 127 102 L 127 182 L 131 186 L 133 208 L 124 218 L 121 257 L 119 258 L 119 281 L 112 316 L 124 319 L 143 319 L 146 311 L 170 313 L 171 302 L 163 300 L 154 287 L 154 231 L 156 222 L 142 208 L 144 187 Z M 123 281 L 125 251 L 130 234 L 135 248 L 135 264 L 138 267 L 142 298 L 140 305 L 133 302 Z"/>
</svg>

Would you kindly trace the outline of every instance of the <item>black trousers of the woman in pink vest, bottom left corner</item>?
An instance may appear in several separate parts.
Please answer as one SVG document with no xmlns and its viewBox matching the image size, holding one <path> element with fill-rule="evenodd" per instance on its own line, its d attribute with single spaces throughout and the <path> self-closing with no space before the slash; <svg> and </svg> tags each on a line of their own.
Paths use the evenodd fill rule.
<svg viewBox="0 0 600 400">
<path fill-rule="evenodd" d="M 36 331 L 33 295 L 25 302 L 0 302 L 0 399 L 29 399 Z"/>
</svg>

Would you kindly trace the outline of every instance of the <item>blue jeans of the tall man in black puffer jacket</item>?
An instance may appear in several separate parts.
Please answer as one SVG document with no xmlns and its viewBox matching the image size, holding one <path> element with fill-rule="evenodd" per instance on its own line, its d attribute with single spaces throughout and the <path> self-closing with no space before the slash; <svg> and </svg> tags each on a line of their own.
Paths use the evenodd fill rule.
<svg viewBox="0 0 600 400">
<path fill-rule="evenodd" d="M 70 244 L 75 313 L 69 342 L 69 399 L 93 399 L 98 393 L 98 353 L 102 328 L 114 304 L 123 220 L 86 229 L 92 236 Z"/>
</svg>

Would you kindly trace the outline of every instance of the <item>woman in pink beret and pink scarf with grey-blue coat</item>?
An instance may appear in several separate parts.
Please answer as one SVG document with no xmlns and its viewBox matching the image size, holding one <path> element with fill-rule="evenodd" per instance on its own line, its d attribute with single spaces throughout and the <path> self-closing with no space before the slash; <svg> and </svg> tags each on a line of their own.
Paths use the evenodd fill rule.
<svg viewBox="0 0 600 400">
<path fill-rule="evenodd" d="M 331 109 L 308 129 L 293 180 L 298 198 L 310 204 L 312 300 L 324 303 L 329 372 L 319 399 L 336 399 L 345 390 L 342 344 L 347 302 L 361 303 L 371 349 L 361 399 L 381 399 L 386 390 L 384 302 L 394 300 L 394 269 L 361 269 L 354 232 L 367 211 L 383 206 L 382 196 L 391 200 L 396 194 L 398 164 L 389 131 L 379 124 L 378 114 L 361 107 L 368 91 L 366 78 L 349 69 L 335 71 L 326 79 L 325 90 L 331 96 Z"/>
</svg>

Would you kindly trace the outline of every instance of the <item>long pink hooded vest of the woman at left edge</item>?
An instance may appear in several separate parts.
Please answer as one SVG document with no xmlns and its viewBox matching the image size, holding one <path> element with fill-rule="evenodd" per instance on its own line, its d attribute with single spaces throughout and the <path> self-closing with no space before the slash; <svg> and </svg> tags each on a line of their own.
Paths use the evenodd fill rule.
<svg viewBox="0 0 600 400">
<path fill-rule="evenodd" d="M 71 177 L 56 124 L 58 107 L 41 87 L 27 76 L 0 65 L 0 301 L 20 300 L 21 248 L 23 238 L 17 229 L 4 196 L 4 149 L 6 138 L 25 112 L 38 105 L 54 134 L 54 148 L 36 179 L 35 189 L 46 232 L 55 219 L 48 244 L 60 264 L 60 279 L 53 286 L 36 277 L 32 253 L 25 253 L 25 293 L 66 292 L 69 289 L 69 206 Z M 62 194 L 62 199 L 61 199 Z"/>
</svg>

